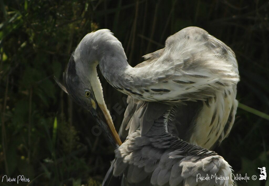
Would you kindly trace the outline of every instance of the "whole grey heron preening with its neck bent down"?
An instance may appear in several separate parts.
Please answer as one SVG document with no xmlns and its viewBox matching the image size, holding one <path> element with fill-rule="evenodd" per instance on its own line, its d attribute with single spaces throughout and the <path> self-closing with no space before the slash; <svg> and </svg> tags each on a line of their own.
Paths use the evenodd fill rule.
<svg viewBox="0 0 269 186">
<path fill-rule="evenodd" d="M 165 47 L 131 67 L 107 29 L 87 34 L 63 75 L 64 89 L 104 125 L 121 145 L 97 76 L 127 94 L 120 128 L 124 143 L 115 150 L 111 173 L 122 185 L 231 185 L 231 178 L 197 180 L 197 175 L 229 177 L 231 167 L 208 149 L 228 136 L 237 108 L 238 65 L 233 51 L 198 27 L 167 38 Z M 112 135 L 111 135 L 112 134 Z"/>
</svg>

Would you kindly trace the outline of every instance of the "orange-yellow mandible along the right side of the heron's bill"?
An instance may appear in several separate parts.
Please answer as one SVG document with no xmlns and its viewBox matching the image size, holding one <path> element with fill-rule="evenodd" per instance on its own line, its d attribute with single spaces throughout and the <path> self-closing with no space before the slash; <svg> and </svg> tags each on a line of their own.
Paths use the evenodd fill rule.
<svg viewBox="0 0 269 186">
<path fill-rule="evenodd" d="M 106 121 L 107 126 L 110 129 L 112 137 L 114 138 L 114 140 L 116 141 L 116 143 L 118 145 L 121 145 L 122 144 L 121 139 L 119 138 L 119 135 L 118 135 L 118 133 L 117 133 L 115 127 L 114 127 L 114 124 L 113 124 L 113 121 L 111 119 L 111 116 L 110 116 L 109 112 L 107 111 L 107 109 L 105 109 L 104 105 L 102 105 L 102 104 L 98 104 L 98 105 L 102 110 L 102 114 L 105 117 L 104 119 Z"/>
</svg>

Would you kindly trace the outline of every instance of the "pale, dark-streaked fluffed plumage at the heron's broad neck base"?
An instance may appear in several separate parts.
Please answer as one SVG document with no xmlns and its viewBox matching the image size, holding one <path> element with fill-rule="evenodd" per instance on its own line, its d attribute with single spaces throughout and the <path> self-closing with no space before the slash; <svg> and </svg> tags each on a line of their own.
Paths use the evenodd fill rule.
<svg viewBox="0 0 269 186">
<path fill-rule="evenodd" d="M 239 81 L 233 51 L 198 27 L 180 30 L 144 58 L 132 69 L 135 79 L 118 82 L 127 88 L 123 93 L 142 101 L 206 100 Z"/>
</svg>

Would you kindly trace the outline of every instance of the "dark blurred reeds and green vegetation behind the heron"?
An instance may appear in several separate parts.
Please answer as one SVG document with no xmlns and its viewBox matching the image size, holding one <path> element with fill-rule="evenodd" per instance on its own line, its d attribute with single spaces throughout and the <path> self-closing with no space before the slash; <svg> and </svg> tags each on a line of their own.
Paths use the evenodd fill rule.
<svg viewBox="0 0 269 186">
<path fill-rule="evenodd" d="M 88 32 L 110 29 L 134 66 L 169 35 L 198 26 L 233 49 L 241 76 L 235 124 L 216 151 L 235 174 L 250 175 L 238 185 L 269 185 L 268 177 L 259 181 L 257 169 L 269 170 L 268 1 L 0 0 L 0 6 L 1 178 L 31 180 L 18 185 L 100 185 L 113 148 L 93 135 L 92 116 L 70 101 L 53 76 L 61 79 Z M 119 129 L 126 96 L 102 76 L 101 82 Z"/>
</svg>

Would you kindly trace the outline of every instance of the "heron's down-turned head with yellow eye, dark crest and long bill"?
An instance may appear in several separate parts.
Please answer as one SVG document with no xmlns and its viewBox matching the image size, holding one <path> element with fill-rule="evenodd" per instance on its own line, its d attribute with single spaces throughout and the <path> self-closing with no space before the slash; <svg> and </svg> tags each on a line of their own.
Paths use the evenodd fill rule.
<svg viewBox="0 0 269 186">
<path fill-rule="evenodd" d="M 102 87 L 96 70 L 98 61 L 94 57 L 94 50 L 85 48 L 84 44 L 87 44 L 87 47 L 94 47 L 89 46 L 90 43 L 85 40 L 80 42 L 63 73 L 64 85 L 58 84 L 77 104 L 91 112 L 103 132 L 107 134 L 109 141 L 121 145 L 121 140 L 104 102 Z M 92 54 L 86 55 L 87 52 Z"/>
</svg>

